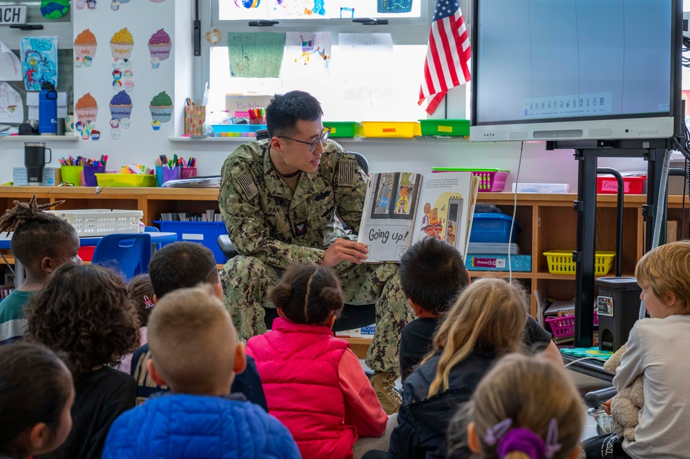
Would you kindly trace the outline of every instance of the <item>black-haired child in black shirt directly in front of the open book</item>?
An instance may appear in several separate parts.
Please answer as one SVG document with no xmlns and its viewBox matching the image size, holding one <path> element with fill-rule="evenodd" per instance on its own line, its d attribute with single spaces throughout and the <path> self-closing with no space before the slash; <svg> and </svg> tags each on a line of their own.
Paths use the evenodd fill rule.
<svg viewBox="0 0 690 459">
<path fill-rule="evenodd" d="M 456 248 L 433 237 L 417 242 L 405 252 L 399 273 L 405 296 L 417 316 L 405 326 L 400 338 L 400 369 L 405 382 L 431 351 L 434 331 L 462 289 L 470 284 L 470 273 Z M 562 363 L 550 333 L 531 316 L 525 325 L 524 344 Z"/>
</svg>

